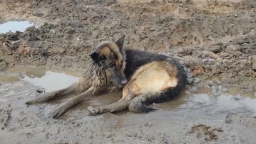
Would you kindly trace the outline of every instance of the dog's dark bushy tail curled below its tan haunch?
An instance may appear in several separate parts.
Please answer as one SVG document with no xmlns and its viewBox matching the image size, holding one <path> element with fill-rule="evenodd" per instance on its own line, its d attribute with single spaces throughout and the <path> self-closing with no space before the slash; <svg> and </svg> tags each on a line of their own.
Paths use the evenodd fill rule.
<svg viewBox="0 0 256 144">
<path fill-rule="evenodd" d="M 147 107 L 153 103 L 162 103 L 169 101 L 179 96 L 185 83 L 179 83 L 176 87 L 165 92 L 150 93 L 134 97 L 129 103 L 129 110 L 132 112 L 149 112 L 156 110 L 155 108 Z"/>
</svg>

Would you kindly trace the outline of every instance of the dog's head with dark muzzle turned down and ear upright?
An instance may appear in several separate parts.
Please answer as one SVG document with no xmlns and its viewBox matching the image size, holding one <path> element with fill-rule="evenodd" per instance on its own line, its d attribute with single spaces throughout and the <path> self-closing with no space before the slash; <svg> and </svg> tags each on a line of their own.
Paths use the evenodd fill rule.
<svg viewBox="0 0 256 144">
<path fill-rule="evenodd" d="M 104 41 L 91 54 L 92 60 L 105 71 L 107 78 L 115 85 L 121 86 L 127 83 L 124 70 L 126 67 L 123 45 L 125 35 L 115 43 Z"/>
</svg>

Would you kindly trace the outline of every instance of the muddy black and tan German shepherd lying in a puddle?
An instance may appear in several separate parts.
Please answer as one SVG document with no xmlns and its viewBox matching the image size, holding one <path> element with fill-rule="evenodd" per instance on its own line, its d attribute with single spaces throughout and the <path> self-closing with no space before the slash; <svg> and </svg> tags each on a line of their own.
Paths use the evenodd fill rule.
<svg viewBox="0 0 256 144">
<path fill-rule="evenodd" d="M 161 103 L 178 96 L 187 82 L 184 66 L 174 58 L 145 51 L 123 49 L 125 35 L 115 43 L 102 42 L 90 55 L 92 62 L 75 84 L 43 94 L 26 104 L 45 102 L 75 94 L 55 108 L 50 117 L 58 118 L 69 108 L 90 96 L 122 90 L 122 98 L 100 106 L 90 115 L 128 108 L 132 112 L 149 112 L 152 103 Z"/>
</svg>

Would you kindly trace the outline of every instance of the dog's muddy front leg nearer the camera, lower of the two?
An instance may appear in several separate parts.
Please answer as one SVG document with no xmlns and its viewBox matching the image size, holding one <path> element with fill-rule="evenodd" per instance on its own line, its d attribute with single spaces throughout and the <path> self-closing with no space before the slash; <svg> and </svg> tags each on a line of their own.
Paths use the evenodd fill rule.
<svg viewBox="0 0 256 144">
<path fill-rule="evenodd" d="M 72 97 L 64 103 L 61 103 L 59 106 L 57 106 L 57 108 L 55 108 L 50 113 L 50 117 L 57 119 L 62 114 L 64 114 L 69 108 L 72 108 L 76 104 L 82 102 L 83 100 L 85 100 L 85 98 L 88 98 L 89 96 L 92 96 L 94 91 L 95 91 L 95 87 L 91 86 L 84 93 L 82 93 L 78 96 Z"/>
</svg>

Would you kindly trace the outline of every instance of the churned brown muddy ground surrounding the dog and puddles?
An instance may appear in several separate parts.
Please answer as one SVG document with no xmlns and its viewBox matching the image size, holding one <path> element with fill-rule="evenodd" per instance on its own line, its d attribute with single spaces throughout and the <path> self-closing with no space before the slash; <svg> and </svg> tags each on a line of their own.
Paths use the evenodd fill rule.
<svg viewBox="0 0 256 144">
<path fill-rule="evenodd" d="M 255 0 L 18 1 L 0 0 L 0 23 L 28 20 L 39 27 L 0 34 L 1 75 L 24 66 L 83 72 L 95 46 L 126 33 L 126 48 L 177 57 L 199 77 L 198 86 L 218 80 L 222 87 L 256 91 Z M 192 100 L 149 114 L 88 117 L 84 110 L 71 120 L 52 120 L 47 104 L 24 104 L 37 89 L 24 81 L 0 83 L 7 99 L 0 101 L 0 143 L 255 142 L 256 119 L 246 108 Z"/>
</svg>

